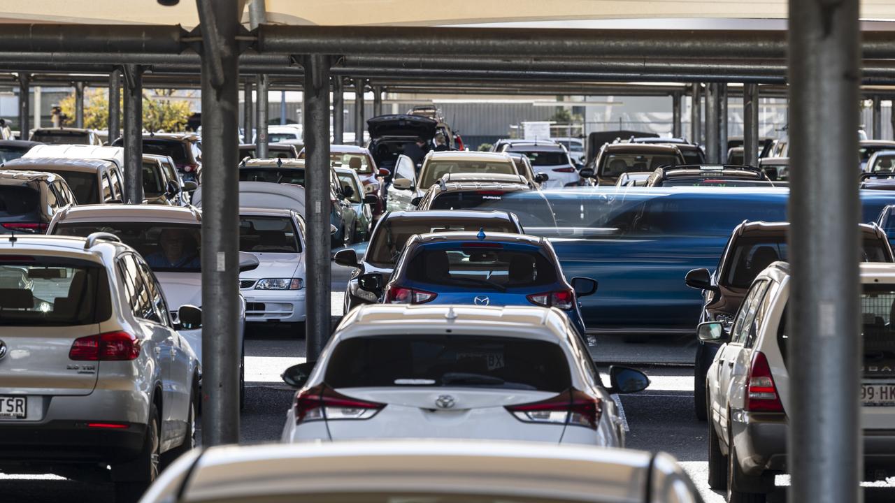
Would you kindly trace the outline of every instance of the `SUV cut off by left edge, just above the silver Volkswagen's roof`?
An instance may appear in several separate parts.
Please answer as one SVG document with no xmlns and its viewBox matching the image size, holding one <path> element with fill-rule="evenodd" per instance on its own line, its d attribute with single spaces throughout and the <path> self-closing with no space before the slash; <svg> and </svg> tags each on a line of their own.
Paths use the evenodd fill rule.
<svg viewBox="0 0 895 503">
<path fill-rule="evenodd" d="M 44 234 L 53 216 L 74 204 L 60 175 L 0 170 L 0 233 Z"/>
</svg>

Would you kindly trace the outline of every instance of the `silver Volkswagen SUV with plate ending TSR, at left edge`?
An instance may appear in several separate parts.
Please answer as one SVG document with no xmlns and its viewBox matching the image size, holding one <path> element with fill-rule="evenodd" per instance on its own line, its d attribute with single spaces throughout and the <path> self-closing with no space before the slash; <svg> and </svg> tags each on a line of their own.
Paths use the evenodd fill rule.
<svg viewBox="0 0 895 503">
<path fill-rule="evenodd" d="M 99 476 L 137 499 L 194 445 L 200 366 L 178 328 L 114 235 L 0 238 L 0 472 Z"/>
</svg>

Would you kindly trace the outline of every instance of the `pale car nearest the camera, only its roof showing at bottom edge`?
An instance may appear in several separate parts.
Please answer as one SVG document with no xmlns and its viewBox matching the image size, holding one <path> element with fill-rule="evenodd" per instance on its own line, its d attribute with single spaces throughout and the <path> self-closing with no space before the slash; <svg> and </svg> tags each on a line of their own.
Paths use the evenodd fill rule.
<svg viewBox="0 0 895 503">
<path fill-rule="evenodd" d="M 520 462 L 521 461 L 521 462 Z M 375 466 L 375 470 L 371 469 Z M 345 483 L 345 473 L 352 473 Z M 209 448 L 168 468 L 143 503 L 230 499 L 702 503 L 672 456 L 531 442 L 388 440 Z"/>
</svg>

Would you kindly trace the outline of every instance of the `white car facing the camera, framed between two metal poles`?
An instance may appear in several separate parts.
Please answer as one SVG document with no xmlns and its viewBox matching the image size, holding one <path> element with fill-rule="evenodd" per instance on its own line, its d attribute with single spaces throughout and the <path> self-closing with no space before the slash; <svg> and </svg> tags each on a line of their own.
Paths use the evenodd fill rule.
<svg viewBox="0 0 895 503">
<path fill-rule="evenodd" d="M 260 262 L 239 276 L 247 323 L 304 321 L 304 250 L 304 218 L 294 209 L 239 209 L 239 251 Z"/>
</svg>

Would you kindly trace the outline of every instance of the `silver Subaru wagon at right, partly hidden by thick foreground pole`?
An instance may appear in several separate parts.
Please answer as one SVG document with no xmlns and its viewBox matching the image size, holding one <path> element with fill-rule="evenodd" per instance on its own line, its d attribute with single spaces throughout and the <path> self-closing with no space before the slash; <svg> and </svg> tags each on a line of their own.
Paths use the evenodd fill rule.
<svg viewBox="0 0 895 503">
<path fill-rule="evenodd" d="M 860 432 L 863 477 L 885 479 L 895 473 L 895 357 L 891 326 L 895 309 L 895 265 L 860 265 L 860 330 L 843 337 L 863 339 Z M 719 322 L 699 326 L 699 337 L 720 345 L 706 385 L 709 403 L 709 486 L 727 490 L 728 501 L 761 501 L 777 473 L 788 472 L 787 432 L 793 396 L 789 370 L 805 358 L 788 347 L 790 269 L 774 262 L 755 278 L 733 327 Z M 842 299 L 849 302 L 848 299 Z"/>
</svg>

